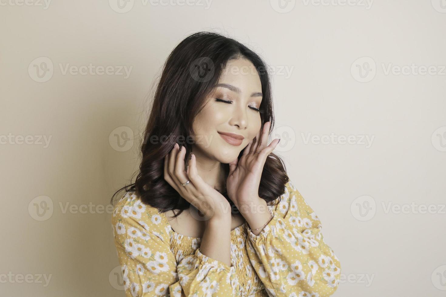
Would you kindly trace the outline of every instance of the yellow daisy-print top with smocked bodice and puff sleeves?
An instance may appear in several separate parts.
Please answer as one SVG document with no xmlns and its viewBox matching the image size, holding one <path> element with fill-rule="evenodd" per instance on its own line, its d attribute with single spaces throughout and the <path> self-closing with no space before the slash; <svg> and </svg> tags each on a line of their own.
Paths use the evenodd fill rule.
<svg viewBox="0 0 446 297">
<path fill-rule="evenodd" d="M 278 198 L 277 198 L 278 199 Z M 321 221 L 291 181 L 259 235 L 231 231 L 231 267 L 200 251 L 201 238 L 178 234 L 165 214 L 135 192 L 116 204 L 113 233 L 127 297 L 324 297 L 338 288 L 341 264 Z"/>
</svg>

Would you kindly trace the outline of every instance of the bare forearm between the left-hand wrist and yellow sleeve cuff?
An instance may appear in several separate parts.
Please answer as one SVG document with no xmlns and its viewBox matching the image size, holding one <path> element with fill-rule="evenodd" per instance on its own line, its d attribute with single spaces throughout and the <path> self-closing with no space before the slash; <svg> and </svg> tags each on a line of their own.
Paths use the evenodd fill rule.
<svg viewBox="0 0 446 297">
<path fill-rule="evenodd" d="M 208 220 L 200 245 L 200 251 L 231 267 L 231 217 Z"/>
</svg>

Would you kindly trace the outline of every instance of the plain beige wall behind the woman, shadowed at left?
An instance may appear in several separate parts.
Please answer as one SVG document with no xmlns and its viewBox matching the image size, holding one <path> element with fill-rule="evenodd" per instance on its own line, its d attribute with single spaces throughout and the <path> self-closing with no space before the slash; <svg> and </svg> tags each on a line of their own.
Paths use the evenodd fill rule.
<svg viewBox="0 0 446 297">
<path fill-rule="evenodd" d="M 108 201 L 162 63 L 200 30 L 271 66 L 277 153 L 341 261 L 335 296 L 445 295 L 444 0 L 117 1 L 0 0 L 1 296 L 124 296 Z"/>
</svg>

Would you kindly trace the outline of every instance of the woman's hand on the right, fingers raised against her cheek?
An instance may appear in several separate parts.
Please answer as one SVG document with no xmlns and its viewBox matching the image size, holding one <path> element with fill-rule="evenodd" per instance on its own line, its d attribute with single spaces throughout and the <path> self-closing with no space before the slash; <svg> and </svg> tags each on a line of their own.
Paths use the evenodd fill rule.
<svg viewBox="0 0 446 297">
<path fill-rule="evenodd" d="M 276 138 L 268 146 L 266 145 L 270 124 L 271 122 L 266 122 L 263 125 L 257 136 L 246 146 L 240 160 L 237 158 L 229 163 L 227 194 L 240 211 L 240 207 L 260 201 L 259 185 L 263 167 L 266 158 L 280 141 L 280 138 Z"/>
</svg>

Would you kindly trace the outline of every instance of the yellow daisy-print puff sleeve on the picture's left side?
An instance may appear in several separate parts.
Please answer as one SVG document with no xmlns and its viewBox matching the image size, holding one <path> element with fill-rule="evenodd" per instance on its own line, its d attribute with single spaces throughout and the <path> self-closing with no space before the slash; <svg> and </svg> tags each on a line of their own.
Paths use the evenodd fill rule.
<svg viewBox="0 0 446 297">
<path fill-rule="evenodd" d="M 133 192 L 116 204 L 111 224 L 127 297 L 228 296 L 235 266 L 197 248 L 177 263 L 170 249 L 170 225 Z"/>
</svg>

